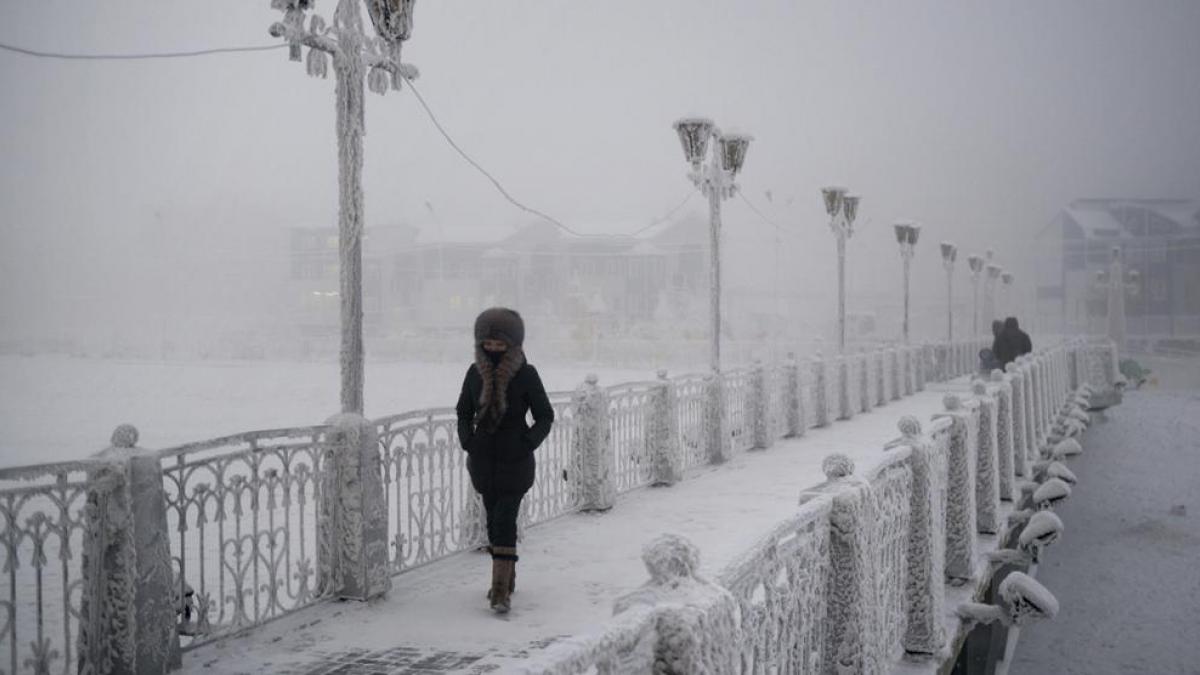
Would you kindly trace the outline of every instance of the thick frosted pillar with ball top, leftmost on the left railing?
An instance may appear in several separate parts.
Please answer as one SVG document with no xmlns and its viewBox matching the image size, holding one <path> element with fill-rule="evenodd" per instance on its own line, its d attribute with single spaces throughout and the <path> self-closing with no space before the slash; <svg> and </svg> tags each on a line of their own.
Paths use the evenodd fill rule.
<svg viewBox="0 0 1200 675">
<path fill-rule="evenodd" d="M 137 429 L 118 426 L 112 446 L 96 455 L 108 464 L 89 472 L 80 673 L 158 674 L 180 665 L 162 466 L 137 442 Z"/>
</svg>

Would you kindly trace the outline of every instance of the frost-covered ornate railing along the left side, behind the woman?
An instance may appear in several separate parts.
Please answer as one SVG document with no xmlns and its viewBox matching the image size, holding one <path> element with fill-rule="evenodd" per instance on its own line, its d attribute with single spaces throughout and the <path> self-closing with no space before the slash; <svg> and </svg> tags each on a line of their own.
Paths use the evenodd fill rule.
<svg viewBox="0 0 1200 675">
<path fill-rule="evenodd" d="M 778 438 L 832 424 L 844 412 L 865 410 L 864 404 L 886 404 L 925 378 L 971 372 L 980 346 L 964 341 L 872 350 L 850 356 L 845 375 L 835 358 L 757 365 L 722 374 L 716 398 L 710 395 L 718 386 L 712 375 L 660 374 L 650 382 L 610 388 L 592 382 L 556 393 L 557 422 L 538 450 L 536 480 L 521 524 L 581 508 L 612 508 L 620 492 L 685 479 L 688 470 L 724 459 L 725 450 L 713 443 L 728 443 L 727 452 L 769 447 Z M 1070 359 L 1075 377 L 1114 377 L 1105 350 L 1091 345 Z M 1034 402 L 1032 395 L 1026 405 Z M 1045 395 L 1038 401 L 1044 418 Z M 726 420 L 721 434 L 712 432 L 714 419 Z M 1043 437 L 1045 422 L 1028 422 L 1026 436 Z M 370 436 L 370 444 L 360 443 L 360 436 Z M 0 554 L 10 577 L 7 592 L 0 587 L 0 650 L 7 650 L 0 653 L 2 668 L 41 671 L 43 663 L 52 663 L 50 671 L 74 671 L 80 658 L 88 658 L 80 657 L 84 635 L 94 637 L 88 649 L 104 658 L 158 655 L 169 662 L 180 646 L 234 634 L 324 598 L 358 597 L 337 572 L 346 556 L 383 561 L 378 571 L 367 566 L 373 579 L 367 586 L 382 589 L 380 578 L 484 540 L 481 508 L 450 410 L 383 418 L 350 435 L 326 425 L 304 426 L 157 452 L 126 441 L 114 442 L 124 454 L 103 467 L 82 462 L 20 470 L 20 476 L 42 477 L 29 483 L 10 479 L 17 470 L 0 473 Z M 114 461 L 116 468 L 109 467 Z M 136 518 L 104 521 L 104 533 L 94 532 L 102 520 L 80 515 L 89 490 L 97 498 L 107 494 L 108 479 L 89 473 L 102 468 L 122 485 L 116 494 L 137 504 L 130 507 Z M 146 471 L 157 479 L 133 482 L 134 473 Z M 356 484 L 376 485 L 378 503 L 346 492 Z M 340 527 L 353 528 L 353 536 L 331 531 Z M 101 592 L 120 587 L 124 568 L 107 562 L 85 567 L 84 540 L 114 542 L 104 560 L 130 556 L 124 568 L 164 579 L 161 592 L 149 583 L 138 586 L 132 602 Z M 89 587 L 97 589 L 92 596 L 85 592 Z M 80 619 L 91 616 L 84 597 L 95 598 L 88 611 L 96 616 L 136 609 L 160 620 L 130 621 L 142 631 L 130 635 L 96 628 Z M 162 626 L 176 631 L 169 638 L 154 633 Z M 152 649 L 138 647 L 148 643 Z"/>
</svg>

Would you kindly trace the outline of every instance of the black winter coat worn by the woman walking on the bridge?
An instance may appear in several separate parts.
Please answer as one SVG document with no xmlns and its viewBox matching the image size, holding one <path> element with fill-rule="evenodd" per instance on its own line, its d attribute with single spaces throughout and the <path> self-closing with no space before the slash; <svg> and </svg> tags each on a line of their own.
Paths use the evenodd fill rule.
<svg viewBox="0 0 1200 675">
<path fill-rule="evenodd" d="M 484 378 L 474 364 L 467 370 L 455 407 L 458 414 L 458 444 L 467 450 L 467 471 L 480 494 L 523 494 L 533 486 L 536 464 L 533 452 L 541 446 L 554 423 L 554 407 L 538 369 L 528 363 L 512 376 L 508 388 L 508 410 L 494 432 L 475 429 Z M 533 411 L 533 426 L 526 422 Z"/>
</svg>

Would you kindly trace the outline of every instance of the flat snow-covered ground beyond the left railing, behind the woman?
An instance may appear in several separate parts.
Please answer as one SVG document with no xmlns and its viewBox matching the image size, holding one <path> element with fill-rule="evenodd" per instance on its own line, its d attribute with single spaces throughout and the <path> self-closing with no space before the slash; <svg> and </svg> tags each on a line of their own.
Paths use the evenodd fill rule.
<svg viewBox="0 0 1200 675">
<path fill-rule="evenodd" d="M 536 364 L 536 360 L 534 359 Z M 451 407 L 468 362 L 367 362 L 366 414 Z M 653 372 L 539 365 L 551 390 L 650 380 Z M 0 466 L 72 460 L 108 444 L 118 424 L 163 448 L 256 429 L 320 424 L 338 410 L 337 363 L 146 362 L 0 357 Z"/>
</svg>

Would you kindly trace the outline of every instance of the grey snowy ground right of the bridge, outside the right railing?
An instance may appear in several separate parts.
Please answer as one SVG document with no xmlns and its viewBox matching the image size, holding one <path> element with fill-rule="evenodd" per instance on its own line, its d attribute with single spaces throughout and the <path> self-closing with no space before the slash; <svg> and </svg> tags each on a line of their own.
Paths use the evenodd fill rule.
<svg viewBox="0 0 1200 675">
<path fill-rule="evenodd" d="M 1200 673 L 1200 388 L 1126 394 L 1084 460 L 1038 569 L 1062 609 L 1022 631 L 1009 673 Z"/>
</svg>

